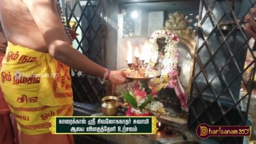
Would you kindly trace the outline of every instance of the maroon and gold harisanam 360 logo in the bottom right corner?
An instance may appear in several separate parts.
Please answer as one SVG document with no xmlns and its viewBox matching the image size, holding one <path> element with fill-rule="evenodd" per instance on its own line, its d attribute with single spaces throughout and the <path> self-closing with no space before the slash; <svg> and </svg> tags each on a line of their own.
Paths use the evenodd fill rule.
<svg viewBox="0 0 256 144">
<path fill-rule="evenodd" d="M 251 135 L 251 126 L 209 126 L 200 124 L 196 128 L 196 134 L 202 139 L 211 136 L 249 136 Z"/>
</svg>

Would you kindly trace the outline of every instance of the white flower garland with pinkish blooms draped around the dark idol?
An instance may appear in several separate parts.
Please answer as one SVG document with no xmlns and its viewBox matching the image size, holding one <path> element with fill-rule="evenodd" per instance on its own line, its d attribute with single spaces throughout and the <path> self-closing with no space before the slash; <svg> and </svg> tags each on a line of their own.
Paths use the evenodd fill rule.
<svg viewBox="0 0 256 144">
<path fill-rule="evenodd" d="M 165 50 L 163 60 L 159 60 L 159 47 L 157 40 L 159 38 L 165 38 Z M 170 31 L 157 30 L 150 36 L 151 45 L 151 58 L 150 58 L 150 69 L 156 65 L 157 62 L 161 63 L 161 77 L 160 79 L 152 79 L 150 81 L 150 87 L 152 92 L 158 92 L 161 88 L 174 88 L 179 78 L 178 71 L 178 43 L 179 38 Z"/>
</svg>

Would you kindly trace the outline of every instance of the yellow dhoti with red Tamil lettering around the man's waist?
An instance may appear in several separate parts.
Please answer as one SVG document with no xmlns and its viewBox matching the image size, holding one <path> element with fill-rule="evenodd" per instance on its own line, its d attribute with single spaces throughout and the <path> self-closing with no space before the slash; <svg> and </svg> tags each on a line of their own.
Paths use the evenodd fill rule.
<svg viewBox="0 0 256 144">
<path fill-rule="evenodd" d="M 50 132 L 51 117 L 73 115 L 70 68 L 49 53 L 9 43 L 1 88 L 23 134 Z"/>
</svg>

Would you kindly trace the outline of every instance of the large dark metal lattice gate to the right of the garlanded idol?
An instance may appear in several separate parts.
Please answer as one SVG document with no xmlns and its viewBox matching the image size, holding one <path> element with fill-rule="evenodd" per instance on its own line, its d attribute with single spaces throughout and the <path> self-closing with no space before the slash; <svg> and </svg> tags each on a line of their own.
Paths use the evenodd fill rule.
<svg viewBox="0 0 256 144">
<path fill-rule="evenodd" d="M 256 55 L 242 28 L 255 0 L 201 0 L 188 128 L 242 126 L 247 121 Z M 245 64 L 246 55 L 251 60 Z M 251 69 L 251 77 L 244 73 Z M 244 94 L 240 87 L 244 86 Z M 242 143 L 243 137 L 211 137 Z"/>
</svg>

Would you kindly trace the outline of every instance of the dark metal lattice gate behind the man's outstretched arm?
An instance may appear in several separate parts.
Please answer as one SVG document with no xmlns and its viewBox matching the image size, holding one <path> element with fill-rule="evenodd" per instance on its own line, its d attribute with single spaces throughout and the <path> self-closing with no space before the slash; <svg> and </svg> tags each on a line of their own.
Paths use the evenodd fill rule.
<svg viewBox="0 0 256 144">
<path fill-rule="evenodd" d="M 104 65 L 106 27 L 101 0 L 66 0 L 65 12 L 68 27 L 79 31 L 74 48 L 99 65 Z M 70 26 L 76 22 L 76 26 Z M 71 69 L 74 101 L 101 103 L 106 90 L 96 77 L 90 77 Z"/>
</svg>

